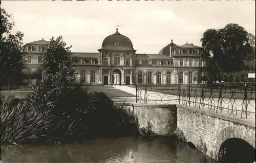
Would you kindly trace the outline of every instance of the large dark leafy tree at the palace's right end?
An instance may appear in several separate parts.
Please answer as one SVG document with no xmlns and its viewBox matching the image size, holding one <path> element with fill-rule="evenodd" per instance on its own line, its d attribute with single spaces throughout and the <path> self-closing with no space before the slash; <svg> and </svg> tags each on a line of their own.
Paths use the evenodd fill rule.
<svg viewBox="0 0 256 163">
<path fill-rule="evenodd" d="M 202 57 L 206 58 L 210 81 L 227 79 L 224 73 L 251 68 L 251 60 L 255 58 L 253 41 L 255 42 L 255 37 L 238 24 L 228 24 L 218 30 L 206 30 L 201 38 L 204 48 Z"/>
</svg>

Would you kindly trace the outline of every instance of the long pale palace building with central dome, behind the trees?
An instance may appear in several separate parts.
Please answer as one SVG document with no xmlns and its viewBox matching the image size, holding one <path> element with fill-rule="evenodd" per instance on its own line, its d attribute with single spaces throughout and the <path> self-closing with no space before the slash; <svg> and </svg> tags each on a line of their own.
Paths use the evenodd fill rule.
<svg viewBox="0 0 256 163">
<path fill-rule="evenodd" d="M 40 71 L 42 39 L 26 43 L 27 71 Z M 177 45 L 173 40 L 158 54 L 137 54 L 132 41 L 118 29 L 106 37 L 97 53 L 72 53 L 75 80 L 88 85 L 197 84 L 202 83 L 205 60 L 202 48 L 193 43 Z"/>
</svg>

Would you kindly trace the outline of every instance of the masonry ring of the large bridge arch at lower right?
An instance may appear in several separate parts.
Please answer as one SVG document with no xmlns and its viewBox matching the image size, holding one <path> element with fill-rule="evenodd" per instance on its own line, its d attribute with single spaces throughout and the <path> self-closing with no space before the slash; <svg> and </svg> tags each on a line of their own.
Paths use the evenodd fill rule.
<svg viewBox="0 0 256 163">
<path fill-rule="evenodd" d="M 223 150 L 225 147 L 228 146 L 228 142 L 237 142 L 239 144 L 247 144 L 248 148 L 254 149 L 255 153 L 255 133 L 250 134 L 247 132 L 239 132 L 239 129 L 234 128 L 233 126 L 227 126 L 223 128 L 220 133 L 217 135 L 217 142 L 215 145 L 215 157 L 220 159 L 222 157 L 221 150 Z M 247 150 L 247 149 L 240 149 L 237 147 L 238 150 Z"/>
</svg>

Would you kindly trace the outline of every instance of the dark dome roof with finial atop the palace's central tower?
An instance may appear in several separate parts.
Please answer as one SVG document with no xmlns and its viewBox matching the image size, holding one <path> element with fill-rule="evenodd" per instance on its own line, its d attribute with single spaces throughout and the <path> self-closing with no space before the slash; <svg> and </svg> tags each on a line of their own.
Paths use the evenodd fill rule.
<svg viewBox="0 0 256 163">
<path fill-rule="evenodd" d="M 116 29 L 116 32 L 112 35 L 109 35 L 108 37 L 106 37 L 101 45 L 101 50 L 132 50 L 133 49 L 133 43 L 132 41 L 124 36 L 121 35 L 118 32 L 118 29 Z"/>
</svg>

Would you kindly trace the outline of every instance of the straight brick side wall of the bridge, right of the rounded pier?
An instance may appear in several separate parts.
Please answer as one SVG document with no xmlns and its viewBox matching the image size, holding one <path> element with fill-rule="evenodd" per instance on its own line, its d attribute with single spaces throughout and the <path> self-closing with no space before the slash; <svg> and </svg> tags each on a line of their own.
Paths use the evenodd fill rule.
<svg viewBox="0 0 256 163">
<path fill-rule="evenodd" d="M 209 110 L 177 105 L 177 127 L 187 142 L 206 145 L 206 155 L 217 158 L 228 138 L 241 138 L 255 148 L 255 123 Z M 200 149 L 199 149 L 200 150 Z"/>
</svg>

